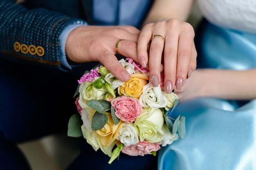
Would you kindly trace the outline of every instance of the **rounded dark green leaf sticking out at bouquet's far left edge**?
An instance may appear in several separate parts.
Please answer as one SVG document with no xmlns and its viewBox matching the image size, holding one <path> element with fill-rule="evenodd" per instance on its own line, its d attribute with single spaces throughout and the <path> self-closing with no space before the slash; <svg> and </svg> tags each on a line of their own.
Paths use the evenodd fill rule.
<svg viewBox="0 0 256 170">
<path fill-rule="evenodd" d="M 74 114 L 71 116 L 68 121 L 68 130 L 67 135 L 70 137 L 80 137 L 83 136 L 81 126 L 83 121 L 81 120 L 81 116 L 79 114 Z"/>
</svg>

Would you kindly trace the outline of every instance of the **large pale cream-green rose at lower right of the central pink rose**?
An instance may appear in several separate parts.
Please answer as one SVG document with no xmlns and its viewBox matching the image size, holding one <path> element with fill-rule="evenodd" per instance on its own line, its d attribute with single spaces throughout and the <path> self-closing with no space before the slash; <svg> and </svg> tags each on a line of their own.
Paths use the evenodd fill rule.
<svg viewBox="0 0 256 170">
<path fill-rule="evenodd" d="M 139 129 L 139 139 L 146 139 L 150 143 L 161 141 L 164 131 L 164 116 L 160 109 L 143 108 L 143 112 L 136 119 L 134 126 Z"/>
</svg>

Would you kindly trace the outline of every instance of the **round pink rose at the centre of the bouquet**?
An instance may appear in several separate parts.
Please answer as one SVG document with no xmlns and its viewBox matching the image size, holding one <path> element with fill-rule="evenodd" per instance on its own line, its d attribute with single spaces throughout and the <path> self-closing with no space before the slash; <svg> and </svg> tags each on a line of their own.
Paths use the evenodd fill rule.
<svg viewBox="0 0 256 170">
<path fill-rule="evenodd" d="M 117 118 L 124 122 L 132 123 L 143 111 L 139 100 L 128 96 L 117 97 L 111 101 Z"/>
</svg>

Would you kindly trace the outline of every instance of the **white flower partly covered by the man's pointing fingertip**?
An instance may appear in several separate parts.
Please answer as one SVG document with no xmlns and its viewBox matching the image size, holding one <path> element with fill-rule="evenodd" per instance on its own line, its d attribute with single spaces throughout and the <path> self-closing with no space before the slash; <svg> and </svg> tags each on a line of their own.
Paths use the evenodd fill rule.
<svg viewBox="0 0 256 170">
<path fill-rule="evenodd" d="M 121 59 L 118 61 L 125 69 L 126 71 L 132 75 L 134 72 L 134 65 L 131 63 L 126 62 L 124 59 Z M 108 73 L 105 76 L 105 80 L 112 85 L 113 89 L 116 89 L 117 87 L 121 86 L 124 84 L 124 81 L 118 80 L 117 78 L 114 79 L 114 75 L 112 73 Z"/>
</svg>

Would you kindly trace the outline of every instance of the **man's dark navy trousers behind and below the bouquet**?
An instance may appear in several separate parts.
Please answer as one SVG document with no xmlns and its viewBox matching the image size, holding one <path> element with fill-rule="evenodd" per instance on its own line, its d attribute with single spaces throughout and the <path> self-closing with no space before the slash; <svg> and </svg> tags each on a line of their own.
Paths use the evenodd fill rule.
<svg viewBox="0 0 256 170">
<path fill-rule="evenodd" d="M 70 116 L 76 113 L 73 95 L 77 80 L 96 63 L 72 72 L 16 65 L 0 59 L 0 170 L 28 170 L 16 144 L 44 135 L 66 132 Z M 120 155 L 108 165 L 109 157 L 95 152 L 85 142 L 70 170 L 156 170 L 156 157 Z"/>
</svg>

